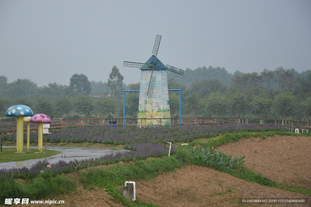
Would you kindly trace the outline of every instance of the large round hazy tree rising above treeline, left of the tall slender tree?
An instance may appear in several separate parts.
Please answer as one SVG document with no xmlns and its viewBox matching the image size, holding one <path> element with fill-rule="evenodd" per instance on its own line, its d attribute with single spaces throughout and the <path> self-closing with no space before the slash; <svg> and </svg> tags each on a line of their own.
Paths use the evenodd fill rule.
<svg viewBox="0 0 311 207">
<path fill-rule="evenodd" d="M 84 74 L 75 73 L 70 78 L 69 88 L 74 90 L 76 93 L 81 93 L 84 95 L 91 94 L 91 82 Z"/>
</svg>

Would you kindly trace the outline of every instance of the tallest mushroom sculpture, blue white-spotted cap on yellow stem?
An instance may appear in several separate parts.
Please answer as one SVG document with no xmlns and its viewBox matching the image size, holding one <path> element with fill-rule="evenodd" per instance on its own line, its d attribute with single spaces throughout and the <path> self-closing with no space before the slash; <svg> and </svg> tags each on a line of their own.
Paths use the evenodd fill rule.
<svg viewBox="0 0 311 207">
<path fill-rule="evenodd" d="M 6 115 L 16 117 L 16 152 L 22 153 L 24 146 L 23 117 L 32 116 L 32 110 L 25 105 L 14 105 L 7 109 Z"/>
</svg>

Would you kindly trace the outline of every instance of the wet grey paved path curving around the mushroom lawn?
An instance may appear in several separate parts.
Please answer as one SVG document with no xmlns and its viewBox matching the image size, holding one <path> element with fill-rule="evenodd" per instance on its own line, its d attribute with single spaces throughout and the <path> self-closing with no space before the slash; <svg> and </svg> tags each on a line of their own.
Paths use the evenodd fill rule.
<svg viewBox="0 0 311 207">
<path fill-rule="evenodd" d="M 2 146 L 2 148 L 12 148 L 7 146 Z M 16 148 L 16 147 L 13 147 Z M 38 147 L 30 147 L 30 148 L 38 148 Z M 60 160 L 64 160 L 69 162 L 70 160 L 84 160 L 89 158 L 96 158 L 103 156 L 105 154 L 116 153 L 116 152 L 126 152 L 128 150 L 124 149 L 103 149 L 103 148 L 92 148 L 92 147 L 49 147 L 47 149 L 60 151 L 57 155 L 53 155 L 46 158 L 37 158 L 31 160 L 24 160 L 24 161 L 13 161 L 13 162 L 1 162 L 0 169 L 7 168 L 11 169 L 13 167 L 20 168 L 20 167 L 31 167 L 31 165 L 35 164 L 38 161 L 47 160 L 48 162 L 55 163 Z M 26 150 L 26 148 L 24 148 Z"/>
</svg>

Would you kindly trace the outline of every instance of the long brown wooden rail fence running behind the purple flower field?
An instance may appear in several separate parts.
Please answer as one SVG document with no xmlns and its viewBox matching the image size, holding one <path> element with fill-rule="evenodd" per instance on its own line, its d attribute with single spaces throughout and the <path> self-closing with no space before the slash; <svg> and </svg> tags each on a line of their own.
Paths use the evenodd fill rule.
<svg viewBox="0 0 311 207">
<path fill-rule="evenodd" d="M 150 118 L 157 119 L 159 125 L 153 126 L 164 126 L 164 120 L 159 118 Z M 123 125 L 122 117 L 104 117 L 104 118 L 89 118 L 89 119 L 52 119 L 50 124 L 50 129 L 58 128 L 64 129 L 68 126 L 110 126 L 113 124 L 117 127 L 135 127 L 137 126 L 138 120 L 146 120 L 139 118 L 125 118 L 125 125 Z M 169 126 L 178 126 L 178 125 L 247 125 L 247 126 L 272 126 L 272 127 L 286 127 L 289 128 L 289 131 L 293 129 L 310 129 L 311 122 L 301 121 L 301 120 L 285 120 L 285 119 L 255 119 L 255 118 L 235 118 L 235 117 L 197 117 L 197 118 L 171 118 L 171 125 Z M 181 120 L 181 123 L 180 123 Z M 258 123 L 257 123 L 258 122 Z M 142 122 L 140 122 L 142 123 Z M 168 125 L 165 125 L 168 126 Z M 27 129 L 27 123 L 24 123 L 24 130 Z M 30 129 L 38 129 L 38 124 L 30 123 Z M 16 133 L 16 122 L 0 124 L 0 133 L 13 132 Z"/>
</svg>

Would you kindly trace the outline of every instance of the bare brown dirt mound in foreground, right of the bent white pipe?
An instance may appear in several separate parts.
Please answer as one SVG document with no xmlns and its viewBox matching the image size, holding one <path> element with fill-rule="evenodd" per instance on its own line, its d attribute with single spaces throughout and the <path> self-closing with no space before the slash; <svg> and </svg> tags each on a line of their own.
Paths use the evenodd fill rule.
<svg viewBox="0 0 311 207">
<path fill-rule="evenodd" d="M 249 183 L 214 169 L 194 165 L 160 175 L 151 181 L 137 181 L 137 185 L 137 196 L 161 207 L 244 206 L 239 204 L 239 198 L 311 199 L 310 196 Z"/>
</svg>

